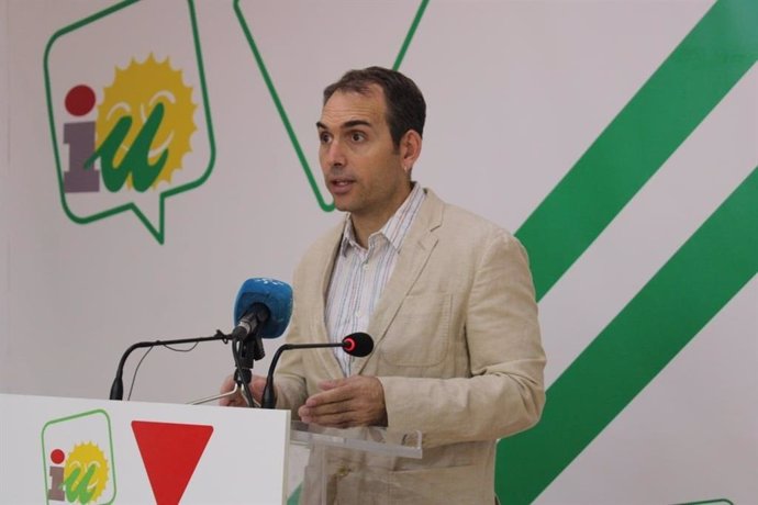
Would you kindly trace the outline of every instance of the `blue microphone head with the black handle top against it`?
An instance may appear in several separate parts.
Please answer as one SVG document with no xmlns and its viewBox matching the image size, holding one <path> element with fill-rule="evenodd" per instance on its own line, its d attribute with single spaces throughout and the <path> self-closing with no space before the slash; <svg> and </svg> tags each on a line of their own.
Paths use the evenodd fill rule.
<svg viewBox="0 0 758 505">
<path fill-rule="evenodd" d="M 277 338 L 287 329 L 292 315 L 292 288 L 275 279 L 247 279 L 234 302 L 232 338 L 250 334 Z"/>
</svg>

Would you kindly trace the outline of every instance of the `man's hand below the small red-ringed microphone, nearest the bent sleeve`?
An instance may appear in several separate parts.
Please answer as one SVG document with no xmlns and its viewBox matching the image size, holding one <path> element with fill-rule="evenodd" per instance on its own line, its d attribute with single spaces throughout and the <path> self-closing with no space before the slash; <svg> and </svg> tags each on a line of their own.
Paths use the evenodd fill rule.
<svg viewBox="0 0 758 505">
<path fill-rule="evenodd" d="M 387 426 L 384 389 L 376 377 L 353 375 L 324 381 L 298 415 L 305 423 L 335 428 Z"/>
</svg>

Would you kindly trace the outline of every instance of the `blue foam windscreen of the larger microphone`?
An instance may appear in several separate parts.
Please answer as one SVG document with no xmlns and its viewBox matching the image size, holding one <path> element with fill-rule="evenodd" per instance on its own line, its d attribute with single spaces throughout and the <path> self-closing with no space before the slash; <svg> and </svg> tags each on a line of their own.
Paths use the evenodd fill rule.
<svg viewBox="0 0 758 505">
<path fill-rule="evenodd" d="M 270 312 L 268 319 L 261 325 L 260 336 L 277 338 L 283 334 L 292 315 L 292 288 L 276 279 L 247 279 L 234 302 L 234 324 L 237 325 L 256 303 L 266 305 Z"/>
</svg>

